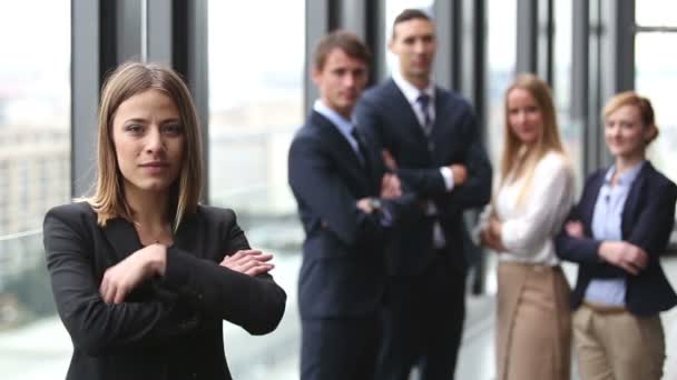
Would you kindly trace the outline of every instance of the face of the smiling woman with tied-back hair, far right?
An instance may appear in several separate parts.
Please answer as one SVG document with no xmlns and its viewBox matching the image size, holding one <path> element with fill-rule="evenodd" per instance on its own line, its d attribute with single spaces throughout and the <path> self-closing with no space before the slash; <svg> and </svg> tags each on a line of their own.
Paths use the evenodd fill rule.
<svg viewBox="0 0 677 380">
<path fill-rule="evenodd" d="M 639 109 L 632 104 L 618 108 L 605 120 L 605 140 L 614 157 L 642 157 L 650 132 L 641 122 Z"/>
</svg>

